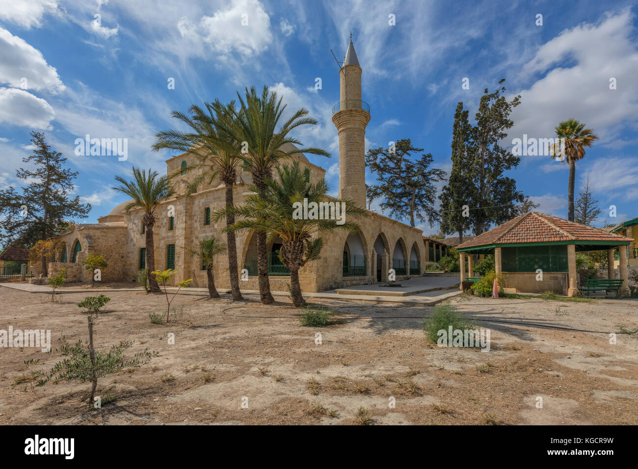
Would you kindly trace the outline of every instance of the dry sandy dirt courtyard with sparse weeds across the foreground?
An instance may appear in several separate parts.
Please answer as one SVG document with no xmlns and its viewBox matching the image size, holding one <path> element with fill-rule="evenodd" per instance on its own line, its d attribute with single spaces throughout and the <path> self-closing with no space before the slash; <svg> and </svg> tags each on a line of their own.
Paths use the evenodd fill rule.
<svg viewBox="0 0 638 469">
<path fill-rule="evenodd" d="M 50 329 L 50 354 L 0 348 L 0 424 L 636 424 L 638 301 L 454 297 L 491 331 L 491 350 L 428 343 L 433 307 L 311 299 L 336 324 L 302 327 L 288 302 L 262 306 L 189 292 L 175 322 L 151 324 L 163 295 L 105 292 L 95 346 L 134 341 L 127 355 L 159 352 L 141 368 L 91 383 L 31 373 L 60 361 L 56 348 L 87 339 L 76 303 L 91 294 L 31 294 L 0 287 L 0 329 Z M 618 332 L 610 344 L 609 332 Z M 320 333 L 320 341 L 317 333 Z M 174 334 L 174 345 L 169 344 Z M 320 342 L 320 343 L 319 343 Z M 39 360 L 39 361 L 38 361 Z M 542 398 L 542 408 L 537 407 Z M 394 403 L 394 407 L 392 407 Z"/>
</svg>

